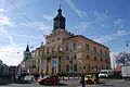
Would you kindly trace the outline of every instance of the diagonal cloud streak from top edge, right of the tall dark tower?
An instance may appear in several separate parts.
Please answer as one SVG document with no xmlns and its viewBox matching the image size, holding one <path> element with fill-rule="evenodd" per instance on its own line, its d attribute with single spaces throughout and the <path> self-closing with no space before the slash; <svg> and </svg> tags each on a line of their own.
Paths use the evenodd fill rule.
<svg viewBox="0 0 130 87">
<path fill-rule="evenodd" d="M 65 1 L 72 8 L 72 10 L 74 10 L 80 17 L 87 16 L 87 13 L 76 8 L 76 5 L 73 3 L 72 0 L 65 0 Z"/>
</svg>

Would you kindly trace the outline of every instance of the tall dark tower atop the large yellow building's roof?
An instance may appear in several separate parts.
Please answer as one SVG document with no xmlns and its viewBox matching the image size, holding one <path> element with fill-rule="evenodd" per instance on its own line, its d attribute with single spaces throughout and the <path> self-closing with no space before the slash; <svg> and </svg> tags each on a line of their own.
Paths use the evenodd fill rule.
<svg viewBox="0 0 130 87">
<path fill-rule="evenodd" d="M 65 30 L 65 17 L 62 15 L 62 9 L 57 10 L 57 15 L 53 18 L 53 30 L 55 29 L 64 29 Z"/>
</svg>

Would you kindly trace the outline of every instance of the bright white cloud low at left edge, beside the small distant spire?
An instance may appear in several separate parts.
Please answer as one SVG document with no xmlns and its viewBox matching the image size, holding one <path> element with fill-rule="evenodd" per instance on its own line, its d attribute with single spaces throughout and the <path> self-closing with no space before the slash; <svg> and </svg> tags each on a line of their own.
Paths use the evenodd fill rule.
<svg viewBox="0 0 130 87">
<path fill-rule="evenodd" d="M 24 50 L 21 45 L 0 46 L 0 60 L 8 65 L 17 65 L 23 60 Z"/>
</svg>

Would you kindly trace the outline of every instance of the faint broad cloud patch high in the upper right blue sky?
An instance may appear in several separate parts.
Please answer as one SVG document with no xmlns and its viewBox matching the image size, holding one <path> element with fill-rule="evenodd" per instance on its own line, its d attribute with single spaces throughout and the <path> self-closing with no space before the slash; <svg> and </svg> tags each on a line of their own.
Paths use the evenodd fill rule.
<svg viewBox="0 0 130 87">
<path fill-rule="evenodd" d="M 108 15 L 108 11 L 105 11 L 104 13 L 94 11 L 93 14 L 99 21 L 106 21 L 106 20 L 110 18 L 110 16 Z"/>
</svg>

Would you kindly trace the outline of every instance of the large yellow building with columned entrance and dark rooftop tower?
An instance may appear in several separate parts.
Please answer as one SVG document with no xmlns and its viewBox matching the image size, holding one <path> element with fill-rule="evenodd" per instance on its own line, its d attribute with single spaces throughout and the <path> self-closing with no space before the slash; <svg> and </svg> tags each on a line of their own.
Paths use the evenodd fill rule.
<svg viewBox="0 0 130 87">
<path fill-rule="evenodd" d="M 82 35 L 65 29 L 65 17 L 57 10 L 53 30 L 34 52 L 37 73 L 80 74 L 110 69 L 109 49 Z"/>
</svg>

